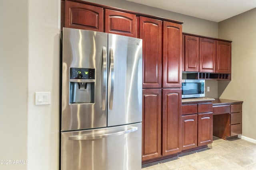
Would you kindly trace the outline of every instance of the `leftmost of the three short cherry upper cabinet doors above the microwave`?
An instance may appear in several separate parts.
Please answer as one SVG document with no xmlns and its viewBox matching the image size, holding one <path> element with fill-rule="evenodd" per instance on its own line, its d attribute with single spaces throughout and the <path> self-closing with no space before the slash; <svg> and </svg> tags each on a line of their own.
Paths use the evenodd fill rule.
<svg viewBox="0 0 256 170">
<path fill-rule="evenodd" d="M 199 72 L 199 37 L 185 35 L 185 71 Z"/>
</svg>

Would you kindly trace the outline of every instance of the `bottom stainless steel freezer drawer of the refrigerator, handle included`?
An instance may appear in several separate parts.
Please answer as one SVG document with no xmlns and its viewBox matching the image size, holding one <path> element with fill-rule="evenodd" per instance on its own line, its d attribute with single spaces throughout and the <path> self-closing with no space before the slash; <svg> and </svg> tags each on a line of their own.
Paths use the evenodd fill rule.
<svg viewBox="0 0 256 170">
<path fill-rule="evenodd" d="M 61 170 L 141 170 L 141 123 L 61 134 Z"/>
</svg>

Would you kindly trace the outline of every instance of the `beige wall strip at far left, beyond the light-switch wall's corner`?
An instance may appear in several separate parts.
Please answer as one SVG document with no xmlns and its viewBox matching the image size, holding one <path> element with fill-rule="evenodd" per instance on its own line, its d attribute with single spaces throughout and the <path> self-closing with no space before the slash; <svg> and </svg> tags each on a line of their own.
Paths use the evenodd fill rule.
<svg viewBox="0 0 256 170">
<path fill-rule="evenodd" d="M 26 170 L 28 160 L 28 0 L 0 1 L 0 164 Z"/>
</svg>

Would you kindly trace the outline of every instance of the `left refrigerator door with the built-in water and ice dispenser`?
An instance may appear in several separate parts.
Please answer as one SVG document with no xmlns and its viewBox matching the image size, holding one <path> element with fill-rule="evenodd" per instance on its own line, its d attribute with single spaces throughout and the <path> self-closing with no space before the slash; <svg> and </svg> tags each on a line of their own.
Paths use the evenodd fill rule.
<svg viewBox="0 0 256 170">
<path fill-rule="evenodd" d="M 63 28 L 61 131 L 106 127 L 107 44 L 107 33 Z M 70 77 L 81 68 L 94 77 Z"/>
</svg>

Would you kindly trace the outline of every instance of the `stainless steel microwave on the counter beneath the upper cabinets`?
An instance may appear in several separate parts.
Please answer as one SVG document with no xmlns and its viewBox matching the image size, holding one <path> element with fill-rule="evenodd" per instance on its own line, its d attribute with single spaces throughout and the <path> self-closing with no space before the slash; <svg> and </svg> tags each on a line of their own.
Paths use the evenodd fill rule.
<svg viewBox="0 0 256 170">
<path fill-rule="evenodd" d="M 205 96 L 205 80 L 182 80 L 182 98 Z"/>
</svg>

